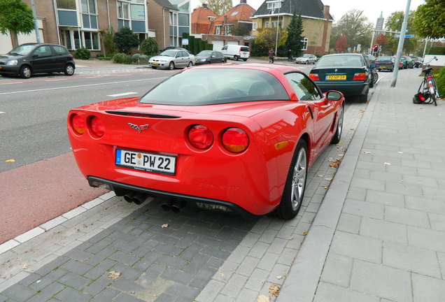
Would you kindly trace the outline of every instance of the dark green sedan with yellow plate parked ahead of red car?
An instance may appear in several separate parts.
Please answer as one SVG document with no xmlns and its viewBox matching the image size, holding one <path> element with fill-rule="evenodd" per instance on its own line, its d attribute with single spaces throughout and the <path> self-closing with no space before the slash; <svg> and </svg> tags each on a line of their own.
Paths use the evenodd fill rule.
<svg viewBox="0 0 445 302">
<path fill-rule="evenodd" d="M 309 77 L 322 92 L 337 90 L 345 96 L 359 96 L 366 102 L 372 87 L 371 69 L 360 54 L 324 55 L 311 70 Z"/>
</svg>

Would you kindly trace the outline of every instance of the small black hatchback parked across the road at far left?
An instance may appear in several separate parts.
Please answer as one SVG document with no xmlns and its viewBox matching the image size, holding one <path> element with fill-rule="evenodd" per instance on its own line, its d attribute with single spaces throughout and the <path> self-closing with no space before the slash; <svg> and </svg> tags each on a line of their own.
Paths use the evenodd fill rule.
<svg viewBox="0 0 445 302">
<path fill-rule="evenodd" d="M 62 45 L 26 43 L 0 56 L 0 75 L 30 78 L 36 73 L 63 72 L 73 75 L 73 56 Z"/>
</svg>

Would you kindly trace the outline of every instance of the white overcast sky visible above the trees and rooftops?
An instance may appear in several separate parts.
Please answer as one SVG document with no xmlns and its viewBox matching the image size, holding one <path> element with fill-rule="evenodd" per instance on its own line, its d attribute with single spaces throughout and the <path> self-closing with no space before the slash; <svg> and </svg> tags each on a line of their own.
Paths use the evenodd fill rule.
<svg viewBox="0 0 445 302">
<path fill-rule="evenodd" d="M 239 0 L 232 0 L 234 6 L 239 4 Z M 335 21 L 340 20 L 348 10 L 353 8 L 363 10 L 369 21 L 374 23 L 377 18 L 380 17 L 381 11 L 383 11 L 383 17 L 386 19 L 388 16 L 397 11 L 404 11 L 407 6 L 407 0 L 321 0 L 323 4 L 330 6 L 330 13 L 334 17 Z M 264 0 L 247 0 L 248 5 L 255 9 L 258 9 Z M 411 0 L 410 10 L 416 10 L 416 8 L 425 3 L 423 0 Z M 199 0 L 192 0 L 192 10 L 199 6 Z"/>
</svg>

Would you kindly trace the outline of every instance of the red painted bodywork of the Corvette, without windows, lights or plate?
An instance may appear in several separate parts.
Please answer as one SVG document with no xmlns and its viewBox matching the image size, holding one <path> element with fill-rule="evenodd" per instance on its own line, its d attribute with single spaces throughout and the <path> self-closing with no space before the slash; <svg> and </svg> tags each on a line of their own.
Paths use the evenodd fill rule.
<svg viewBox="0 0 445 302">
<path fill-rule="evenodd" d="M 290 100 L 167 106 L 127 98 L 71 110 L 68 134 L 80 171 L 86 178 L 94 176 L 160 192 L 226 201 L 254 215 L 270 213 L 281 201 L 297 142 L 302 137 L 306 139 L 311 166 L 334 135 L 344 99 L 298 101 L 283 75 L 295 69 L 248 65 L 243 68 L 274 74 Z M 104 136 L 97 138 L 90 127 L 81 135 L 76 133 L 71 124 L 74 114 L 86 124 L 92 116 L 99 117 L 104 123 Z M 139 133 L 129 123 L 149 126 Z M 209 149 L 198 150 L 188 141 L 188 130 L 195 124 L 211 130 L 214 141 Z M 246 131 L 250 141 L 246 151 L 234 154 L 223 147 L 221 136 L 230 127 Z M 288 143 L 284 148 L 276 148 L 276 143 L 281 142 Z M 166 175 L 116 166 L 117 149 L 174 156 L 176 173 Z"/>
</svg>

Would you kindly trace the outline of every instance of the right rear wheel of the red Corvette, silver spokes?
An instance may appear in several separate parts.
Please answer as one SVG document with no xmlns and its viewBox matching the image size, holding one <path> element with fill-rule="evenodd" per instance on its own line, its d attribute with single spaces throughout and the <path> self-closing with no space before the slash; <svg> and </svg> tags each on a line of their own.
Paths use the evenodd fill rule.
<svg viewBox="0 0 445 302">
<path fill-rule="evenodd" d="M 295 148 L 295 154 L 290 162 L 288 177 L 286 178 L 283 196 L 280 204 L 274 210 L 274 215 L 283 220 L 290 220 L 297 216 L 302 207 L 307 178 L 307 144 L 300 139 Z"/>
</svg>

